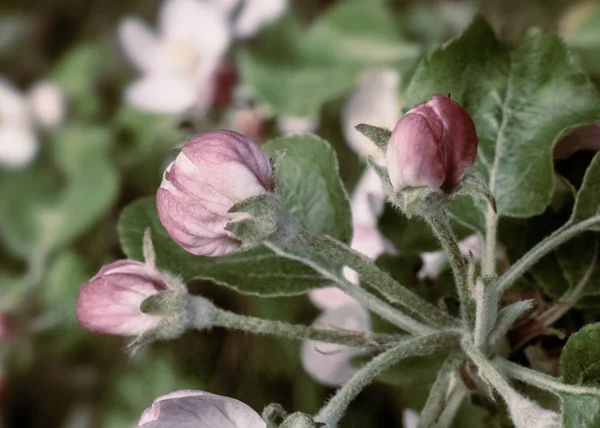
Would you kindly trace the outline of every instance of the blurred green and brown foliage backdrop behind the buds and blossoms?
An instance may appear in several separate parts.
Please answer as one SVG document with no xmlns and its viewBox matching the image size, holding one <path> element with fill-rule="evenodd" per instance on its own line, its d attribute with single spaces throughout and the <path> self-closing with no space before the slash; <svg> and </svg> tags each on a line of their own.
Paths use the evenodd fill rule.
<svg viewBox="0 0 600 428">
<path fill-rule="evenodd" d="M 156 115 L 124 101 L 136 71 L 117 27 L 126 16 L 153 27 L 160 1 L 3 0 L 0 75 L 23 94 L 39 81 L 58 84 L 66 113 L 52 129 L 34 131 L 39 151 L 30 163 L 0 165 L 0 426 L 132 427 L 157 395 L 184 388 L 235 397 L 258 411 L 271 402 L 318 410 L 333 389 L 303 371 L 298 343 L 215 329 L 130 358 L 123 339 L 83 330 L 74 315 L 77 291 L 100 266 L 123 257 L 119 213 L 154 194 L 186 136 L 233 127 L 232 112 L 243 102 L 265 107 L 263 141 L 280 132 L 281 118 L 317 118 L 316 133 L 338 151 L 351 189 L 363 166 L 344 138 L 341 111 L 356 77 L 369 65 L 408 75 L 422 53 L 477 13 L 507 43 L 531 25 L 563 33 L 581 64 L 600 76 L 598 5 L 580 3 L 291 1 L 272 25 L 228 51 L 237 70 L 229 89 L 248 88 L 250 101 L 238 94 L 201 115 Z M 334 13 L 342 6 L 354 12 Z M 379 60 L 358 51 L 357 40 L 402 53 Z M 3 102 L 0 94 L 0 130 Z M 207 282 L 190 289 L 238 313 L 305 324 L 319 313 L 304 296 L 259 299 Z M 402 426 L 403 409 L 423 403 L 433 380 L 427 368 L 439 362 L 435 355 L 409 360 L 361 394 L 342 426 Z"/>
</svg>

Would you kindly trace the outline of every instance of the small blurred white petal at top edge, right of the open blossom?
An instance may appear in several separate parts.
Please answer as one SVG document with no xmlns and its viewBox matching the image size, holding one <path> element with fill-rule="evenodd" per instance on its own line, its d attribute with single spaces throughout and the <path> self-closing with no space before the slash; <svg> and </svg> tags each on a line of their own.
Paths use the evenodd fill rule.
<svg viewBox="0 0 600 428">
<path fill-rule="evenodd" d="M 275 21 L 285 12 L 288 0 L 246 0 L 235 22 L 238 38 L 254 36 L 262 27 Z"/>
</svg>

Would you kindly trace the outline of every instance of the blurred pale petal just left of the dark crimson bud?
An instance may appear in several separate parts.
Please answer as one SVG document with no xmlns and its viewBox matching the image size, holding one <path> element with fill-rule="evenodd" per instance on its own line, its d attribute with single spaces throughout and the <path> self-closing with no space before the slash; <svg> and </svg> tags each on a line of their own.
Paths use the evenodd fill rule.
<svg viewBox="0 0 600 428">
<path fill-rule="evenodd" d="M 358 79 L 342 111 L 342 130 L 350 147 L 362 158 L 383 160 L 381 150 L 354 127 L 361 123 L 392 129 L 400 117 L 398 84 L 394 70 L 371 68 Z"/>
</svg>

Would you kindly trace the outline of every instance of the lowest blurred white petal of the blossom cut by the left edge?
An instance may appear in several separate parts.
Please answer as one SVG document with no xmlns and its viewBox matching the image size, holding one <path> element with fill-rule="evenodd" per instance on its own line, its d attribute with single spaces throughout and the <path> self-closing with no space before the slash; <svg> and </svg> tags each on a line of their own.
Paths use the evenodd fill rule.
<svg viewBox="0 0 600 428">
<path fill-rule="evenodd" d="M 25 167 L 35 157 L 38 146 L 33 131 L 27 128 L 1 127 L 0 165 L 11 168 Z"/>
</svg>

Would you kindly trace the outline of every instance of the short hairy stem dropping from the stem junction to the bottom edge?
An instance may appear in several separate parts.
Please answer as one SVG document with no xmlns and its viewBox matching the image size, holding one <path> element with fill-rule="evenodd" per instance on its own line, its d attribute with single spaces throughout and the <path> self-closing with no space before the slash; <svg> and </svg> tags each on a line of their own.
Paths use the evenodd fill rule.
<svg viewBox="0 0 600 428">
<path fill-rule="evenodd" d="M 457 355 L 450 355 L 438 372 L 437 378 L 429 391 L 425 407 L 421 411 L 421 419 L 417 428 L 434 426 L 441 416 L 450 393 L 454 390 L 456 369 L 461 359 Z M 453 382 L 454 380 L 454 382 Z"/>
</svg>

